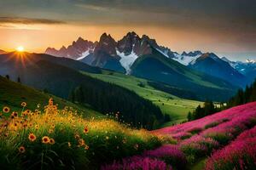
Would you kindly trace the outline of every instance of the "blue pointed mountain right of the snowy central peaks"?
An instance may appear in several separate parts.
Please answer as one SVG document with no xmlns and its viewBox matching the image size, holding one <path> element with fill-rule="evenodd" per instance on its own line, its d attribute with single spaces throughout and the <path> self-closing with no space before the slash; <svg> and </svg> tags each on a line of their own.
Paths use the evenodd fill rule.
<svg viewBox="0 0 256 170">
<path fill-rule="evenodd" d="M 247 84 L 247 78 L 245 76 L 231 67 L 228 62 L 219 59 L 213 53 L 202 54 L 199 58 L 191 62 L 189 67 L 213 77 L 222 78 L 236 86 L 244 87 Z"/>
</svg>

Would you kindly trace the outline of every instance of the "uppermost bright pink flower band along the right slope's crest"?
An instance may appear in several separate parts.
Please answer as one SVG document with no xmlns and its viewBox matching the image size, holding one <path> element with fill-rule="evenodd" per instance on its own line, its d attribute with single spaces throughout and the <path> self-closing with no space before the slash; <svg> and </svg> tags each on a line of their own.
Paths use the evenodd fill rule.
<svg viewBox="0 0 256 170">
<path fill-rule="evenodd" d="M 200 133 L 206 133 L 211 130 L 211 127 L 228 128 L 230 126 L 231 128 L 235 125 L 239 126 L 238 122 L 248 121 L 248 118 L 255 116 L 256 102 L 252 102 L 246 105 L 238 105 L 228 110 L 220 111 L 211 116 L 205 116 L 195 121 L 186 122 L 172 127 L 161 128 L 153 131 L 153 133 L 168 134 L 172 135 L 174 138 L 181 138 L 183 135 L 188 135 L 191 133 L 191 129 L 198 128 L 201 129 Z"/>
</svg>

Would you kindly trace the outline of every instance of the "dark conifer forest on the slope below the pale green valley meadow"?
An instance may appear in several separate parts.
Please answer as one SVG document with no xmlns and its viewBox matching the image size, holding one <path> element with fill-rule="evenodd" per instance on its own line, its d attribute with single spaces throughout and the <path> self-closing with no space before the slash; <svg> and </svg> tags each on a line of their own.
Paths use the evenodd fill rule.
<svg viewBox="0 0 256 170">
<path fill-rule="evenodd" d="M 103 114 L 119 113 L 119 121 L 133 127 L 153 129 L 166 121 L 158 106 L 126 88 L 101 81 L 95 83 L 94 87 L 87 85 L 73 88 L 68 99 L 80 105 L 89 104 Z"/>
</svg>

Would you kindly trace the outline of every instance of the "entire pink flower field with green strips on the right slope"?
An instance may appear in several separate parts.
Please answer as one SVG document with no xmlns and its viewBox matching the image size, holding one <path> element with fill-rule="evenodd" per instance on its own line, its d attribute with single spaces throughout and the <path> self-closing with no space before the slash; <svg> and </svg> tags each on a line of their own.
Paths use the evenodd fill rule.
<svg viewBox="0 0 256 170">
<path fill-rule="evenodd" d="M 102 169 L 190 169 L 196 161 L 210 156 L 206 170 L 253 170 L 256 168 L 255 125 L 256 102 L 236 106 L 200 120 L 155 130 L 152 132 L 155 135 L 172 137 L 176 143 L 164 144 L 122 161 L 113 161 Z M 150 159 L 152 168 L 147 167 L 148 163 L 142 165 Z M 134 165 L 140 168 L 134 168 Z"/>
</svg>

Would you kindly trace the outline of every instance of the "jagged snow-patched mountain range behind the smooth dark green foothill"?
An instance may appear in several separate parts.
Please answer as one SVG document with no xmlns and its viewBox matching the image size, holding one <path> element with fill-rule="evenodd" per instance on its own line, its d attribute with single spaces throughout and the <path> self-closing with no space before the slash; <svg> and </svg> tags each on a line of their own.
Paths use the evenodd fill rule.
<svg viewBox="0 0 256 170">
<path fill-rule="evenodd" d="M 62 47 L 60 50 L 47 48 L 45 54 L 77 59 L 88 65 L 131 75 L 135 75 L 137 72 L 133 71 L 136 68 L 134 64 L 137 63 L 137 60 L 142 60 L 140 58 L 143 58 L 145 55 L 157 54 L 158 56 L 165 57 L 166 60 L 172 59 L 177 61 L 180 64 L 179 67 L 185 65 L 194 71 L 218 77 L 241 88 L 253 81 L 253 71 L 256 68 L 253 65 L 250 71 L 246 71 L 246 73 L 241 72 L 238 67 L 233 66 L 235 64 L 232 64 L 232 62 L 220 59 L 216 54 L 202 53 L 199 50 L 178 54 L 170 48 L 160 46 L 156 40 L 146 35 L 139 37 L 134 31 L 128 32 L 119 41 L 115 41 L 107 33 L 102 34 L 99 42 L 90 42 L 79 37 L 76 42 L 73 42 L 67 48 Z M 148 67 L 151 66 L 152 64 L 148 65 Z M 143 77 L 146 78 L 145 75 Z M 150 77 L 150 75 L 147 77 Z M 159 80 L 154 79 L 154 81 Z M 177 84 L 171 83 L 171 85 Z"/>
</svg>

